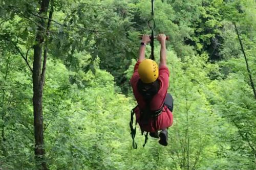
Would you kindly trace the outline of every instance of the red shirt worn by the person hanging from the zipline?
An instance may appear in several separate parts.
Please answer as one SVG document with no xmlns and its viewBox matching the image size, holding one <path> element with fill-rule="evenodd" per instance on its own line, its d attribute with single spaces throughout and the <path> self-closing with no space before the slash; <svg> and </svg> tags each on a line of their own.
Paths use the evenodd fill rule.
<svg viewBox="0 0 256 170">
<path fill-rule="evenodd" d="M 163 130 L 165 128 L 168 128 L 173 124 L 173 113 L 166 106 L 164 106 L 163 111 L 160 115 L 158 115 L 157 117 L 150 117 L 147 123 L 143 123 L 140 120 L 140 109 L 143 110 L 146 107 L 146 102 L 144 101 L 143 96 L 140 94 L 137 88 L 137 83 L 140 79 L 138 73 L 139 64 L 140 62 L 137 62 L 135 64 L 134 74 L 130 80 L 135 99 L 139 105 L 139 107 L 135 109 L 136 122 L 139 123 L 140 129 L 146 132 L 155 132 L 157 130 Z M 153 99 L 151 100 L 151 110 L 159 110 L 163 106 L 169 85 L 169 70 L 166 66 L 159 67 L 158 80 L 160 83 L 160 87 L 157 94 L 155 94 Z"/>
</svg>

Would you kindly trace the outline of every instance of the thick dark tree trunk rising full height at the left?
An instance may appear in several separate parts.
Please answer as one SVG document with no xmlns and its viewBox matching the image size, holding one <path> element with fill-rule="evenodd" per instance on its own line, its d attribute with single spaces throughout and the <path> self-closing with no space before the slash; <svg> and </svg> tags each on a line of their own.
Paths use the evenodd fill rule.
<svg viewBox="0 0 256 170">
<path fill-rule="evenodd" d="M 49 0 L 41 1 L 39 15 L 47 16 Z M 44 120 L 42 117 L 42 91 L 44 87 L 44 74 L 41 74 L 42 42 L 46 35 L 46 23 L 43 18 L 39 19 L 40 26 L 37 28 L 36 41 L 34 45 L 33 60 L 33 108 L 34 108 L 34 137 L 36 169 L 47 170 L 44 149 Z"/>
</svg>

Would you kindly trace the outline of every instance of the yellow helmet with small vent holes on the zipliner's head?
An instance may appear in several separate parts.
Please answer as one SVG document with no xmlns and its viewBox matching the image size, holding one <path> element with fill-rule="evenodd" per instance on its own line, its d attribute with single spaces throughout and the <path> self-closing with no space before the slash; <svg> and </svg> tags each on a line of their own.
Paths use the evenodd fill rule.
<svg viewBox="0 0 256 170">
<path fill-rule="evenodd" d="M 139 64 L 138 72 L 143 83 L 153 83 L 158 78 L 158 65 L 154 60 L 145 59 Z"/>
</svg>

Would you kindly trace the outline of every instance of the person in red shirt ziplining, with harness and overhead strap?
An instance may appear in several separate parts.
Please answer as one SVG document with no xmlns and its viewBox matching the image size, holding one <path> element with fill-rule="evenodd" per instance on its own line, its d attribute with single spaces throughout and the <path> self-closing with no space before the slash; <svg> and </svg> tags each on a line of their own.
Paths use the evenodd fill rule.
<svg viewBox="0 0 256 170">
<path fill-rule="evenodd" d="M 130 80 L 135 99 L 138 103 L 131 112 L 130 121 L 134 149 L 137 149 L 137 143 L 134 140 L 136 135 L 136 126 L 133 128 L 134 114 L 136 115 L 136 124 L 139 124 L 141 133 L 145 135 L 143 147 L 146 144 L 148 133 L 150 133 L 151 137 L 160 138 L 159 143 L 167 146 L 167 129 L 173 125 L 173 97 L 167 93 L 169 70 L 166 65 L 165 41 L 169 37 L 166 37 L 164 34 L 157 36 L 157 40 L 161 44 L 158 68 L 158 64 L 154 61 L 154 38 L 156 38 L 154 36 L 154 29 L 156 27 L 154 0 L 152 0 L 152 19 L 148 20 L 148 26 L 152 31 L 151 36 L 143 35 L 141 37 L 139 58 L 134 66 L 134 73 Z M 149 42 L 151 45 L 151 57 L 150 59 L 145 59 L 145 47 Z"/>
</svg>

